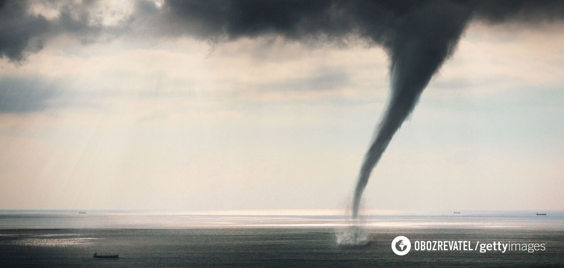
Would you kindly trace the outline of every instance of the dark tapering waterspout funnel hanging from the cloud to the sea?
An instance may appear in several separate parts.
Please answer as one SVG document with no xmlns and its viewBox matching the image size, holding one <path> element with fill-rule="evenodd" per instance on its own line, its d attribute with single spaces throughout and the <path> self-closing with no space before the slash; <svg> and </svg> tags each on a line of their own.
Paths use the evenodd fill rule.
<svg viewBox="0 0 564 268">
<path fill-rule="evenodd" d="M 398 21 L 391 59 L 391 98 L 376 136 L 364 157 L 356 185 L 352 216 L 358 215 L 368 178 L 395 132 L 415 107 L 431 77 L 448 56 L 464 30 L 470 12 L 450 2 L 430 3 Z"/>
</svg>

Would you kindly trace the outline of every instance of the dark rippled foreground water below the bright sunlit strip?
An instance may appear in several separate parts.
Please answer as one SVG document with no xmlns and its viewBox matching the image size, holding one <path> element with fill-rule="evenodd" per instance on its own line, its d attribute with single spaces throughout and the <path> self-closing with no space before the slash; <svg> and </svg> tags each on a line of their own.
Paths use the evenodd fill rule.
<svg viewBox="0 0 564 268">
<path fill-rule="evenodd" d="M 362 247 L 340 246 L 334 229 L 18 229 L 0 230 L 0 267 L 562 267 L 564 231 L 369 229 Z M 409 252 L 415 240 L 527 241 L 543 252 Z M 92 258 L 116 252 L 118 259 Z"/>
</svg>

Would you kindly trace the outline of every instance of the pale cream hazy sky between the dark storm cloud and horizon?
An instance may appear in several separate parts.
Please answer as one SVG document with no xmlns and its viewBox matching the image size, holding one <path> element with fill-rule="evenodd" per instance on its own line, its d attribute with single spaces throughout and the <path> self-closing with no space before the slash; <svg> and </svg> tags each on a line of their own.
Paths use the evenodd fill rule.
<svg viewBox="0 0 564 268">
<path fill-rule="evenodd" d="M 389 94 L 380 46 L 114 33 L 135 5 L 0 51 L 0 209 L 349 207 Z M 564 209 L 563 27 L 470 23 L 364 207 Z"/>
</svg>

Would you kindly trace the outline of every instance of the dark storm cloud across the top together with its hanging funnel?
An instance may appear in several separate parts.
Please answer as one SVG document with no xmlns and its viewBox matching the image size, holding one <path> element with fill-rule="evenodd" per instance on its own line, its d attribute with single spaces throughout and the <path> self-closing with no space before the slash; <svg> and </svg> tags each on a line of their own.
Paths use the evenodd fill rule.
<svg viewBox="0 0 564 268">
<path fill-rule="evenodd" d="M 151 34 L 153 38 L 191 36 L 211 42 L 268 35 L 337 43 L 360 38 L 382 46 L 390 56 L 391 97 L 360 169 L 354 217 L 372 169 L 433 74 L 452 55 L 470 20 L 531 24 L 564 19 L 564 1 L 169 0 L 162 7 L 140 1 L 121 29 L 104 29 L 80 19 L 65 20 L 65 16 L 47 21 L 25 12 L 27 4 L 0 3 L 0 23 L 8 25 L 0 28 L 1 56 L 20 60 L 23 51 L 33 50 L 29 47 L 33 38 L 46 39 L 63 32 L 96 36 L 109 30 L 114 34 Z M 17 21 L 25 23 L 19 27 Z"/>
</svg>

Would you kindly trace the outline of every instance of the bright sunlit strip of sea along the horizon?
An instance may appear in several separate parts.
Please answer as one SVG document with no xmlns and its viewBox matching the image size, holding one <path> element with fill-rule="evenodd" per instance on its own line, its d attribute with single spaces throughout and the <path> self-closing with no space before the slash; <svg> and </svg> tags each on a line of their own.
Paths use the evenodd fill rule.
<svg viewBox="0 0 564 268">
<path fill-rule="evenodd" d="M 267 210 L 240 212 L 112 212 L 88 214 L 65 211 L 0 211 L 0 229 L 190 229 L 190 228 L 257 228 L 257 227 L 346 227 L 351 225 L 346 212 L 320 213 L 304 210 L 292 212 Z M 564 213 L 472 211 L 398 212 L 371 211 L 360 216 L 365 228 L 465 228 L 465 229 L 552 229 L 564 230 Z M 58 234 L 57 236 L 64 236 Z"/>
</svg>

